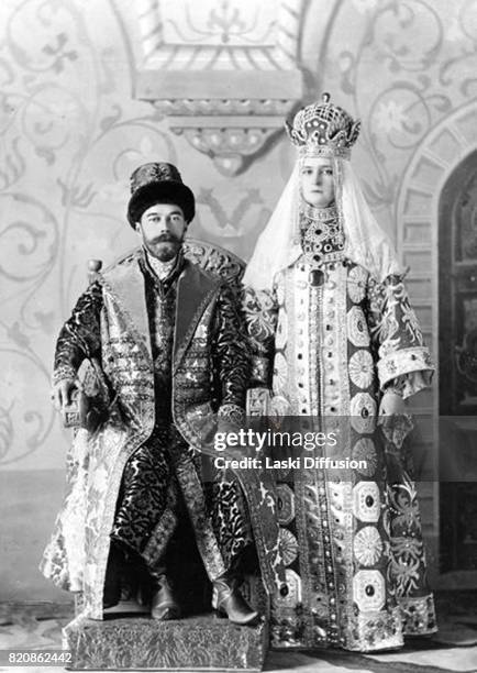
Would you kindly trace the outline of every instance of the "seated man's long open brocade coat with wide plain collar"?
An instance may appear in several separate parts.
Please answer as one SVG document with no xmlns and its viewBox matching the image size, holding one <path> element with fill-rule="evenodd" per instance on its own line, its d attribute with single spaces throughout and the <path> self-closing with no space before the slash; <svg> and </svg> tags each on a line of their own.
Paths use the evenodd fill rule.
<svg viewBox="0 0 477 673">
<path fill-rule="evenodd" d="M 155 427 L 154 362 L 141 258 L 142 251 L 135 251 L 98 276 L 101 308 L 97 321 L 88 326 L 91 338 L 85 342 L 77 329 L 81 316 L 74 312 L 70 320 L 78 326 L 66 339 L 69 364 L 64 362 L 64 371 L 54 375 L 74 377 L 81 357 L 95 357 L 113 398 L 108 420 L 97 432 L 80 429 L 75 435 L 67 457 L 67 493 L 41 564 L 57 586 L 82 593 L 81 616 L 95 619 L 102 619 L 110 533 L 124 467 Z M 219 406 L 244 401 L 248 366 L 237 320 L 230 287 L 185 261 L 177 283 L 171 412 L 175 427 L 195 450 L 190 456 L 214 455 L 210 438 Z M 270 594 L 280 581 L 274 501 L 266 488 L 253 483 L 253 475 L 234 476 L 247 499 L 262 577 Z M 176 478 L 199 549 L 207 552 L 209 576 L 219 576 L 225 570 L 224 559 L 196 461 L 185 455 L 176 465 Z"/>
</svg>

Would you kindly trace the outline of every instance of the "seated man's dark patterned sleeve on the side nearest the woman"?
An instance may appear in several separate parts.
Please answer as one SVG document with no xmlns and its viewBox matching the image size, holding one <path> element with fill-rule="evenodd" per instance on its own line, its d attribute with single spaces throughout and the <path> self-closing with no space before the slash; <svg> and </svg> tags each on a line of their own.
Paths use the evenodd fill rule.
<svg viewBox="0 0 477 673">
<path fill-rule="evenodd" d="M 249 379 L 249 350 L 239 299 L 225 285 L 215 305 L 212 360 L 221 389 L 219 416 L 233 416 L 239 409 L 243 413 Z"/>
</svg>

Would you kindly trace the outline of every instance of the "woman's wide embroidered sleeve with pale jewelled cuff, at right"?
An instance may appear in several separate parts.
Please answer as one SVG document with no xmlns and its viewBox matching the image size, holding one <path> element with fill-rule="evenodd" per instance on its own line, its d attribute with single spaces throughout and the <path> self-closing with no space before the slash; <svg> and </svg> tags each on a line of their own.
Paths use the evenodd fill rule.
<svg viewBox="0 0 477 673">
<path fill-rule="evenodd" d="M 434 366 L 402 276 L 369 280 L 368 326 L 381 390 L 395 388 L 407 398 L 428 387 Z"/>
</svg>

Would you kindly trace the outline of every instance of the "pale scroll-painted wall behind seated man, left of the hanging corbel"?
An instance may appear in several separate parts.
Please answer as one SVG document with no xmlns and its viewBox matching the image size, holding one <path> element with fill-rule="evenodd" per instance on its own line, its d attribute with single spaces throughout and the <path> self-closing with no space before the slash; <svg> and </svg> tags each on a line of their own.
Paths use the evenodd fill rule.
<svg viewBox="0 0 477 673">
<path fill-rule="evenodd" d="M 48 399 L 54 339 L 87 260 L 112 262 L 136 243 L 124 218 L 131 172 L 158 157 L 177 163 L 200 205 L 191 234 L 243 257 L 285 177 L 278 168 L 263 179 L 257 164 L 223 179 L 159 110 L 132 98 L 134 9 L 109 0 L 0 8 L 1 468 L 63 467 L 67 435 Z"/>
</svg>

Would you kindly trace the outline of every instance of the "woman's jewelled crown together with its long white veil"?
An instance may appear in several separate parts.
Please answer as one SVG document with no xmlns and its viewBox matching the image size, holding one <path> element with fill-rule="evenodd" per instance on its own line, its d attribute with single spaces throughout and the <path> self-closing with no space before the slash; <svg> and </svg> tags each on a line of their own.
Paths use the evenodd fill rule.
<svg viewBox="0 0 477 673">
<path fill-rule="evenodd" d="M 353 120 L 345 110 L 330 101 L 329 93 L 323 93 L 322 101 L 297 112 L 291 125 L 286 123 L 291 143 L 298 148 L 298 161 L 258 238 L 245 271 L 245 286 L 257 290 L 271 289 L 276 274 L 302 255 L 299 231 L 303 205 L 300 168 L 310 157 L 330 157 L 333 165 L 335 207 L 344 235 L 342 256 L 366 268 L 377 280 L 384 280 L 391 274 L 402 274 L 393 245 L 371 213 L 348 161 L 359 126 L 359 121 Z M 320 210 L 328 209 L 312 210 L 320 218 Z"/>
</svg>

